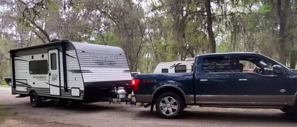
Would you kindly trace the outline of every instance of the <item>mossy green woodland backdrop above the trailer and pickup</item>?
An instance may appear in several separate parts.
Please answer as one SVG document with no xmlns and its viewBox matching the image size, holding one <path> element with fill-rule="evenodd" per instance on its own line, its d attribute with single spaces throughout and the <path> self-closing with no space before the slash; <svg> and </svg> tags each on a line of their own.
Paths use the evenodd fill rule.
<svg viewBox="0 0 297 127">
<path fill-rule="evenodd" d="M 31 0 L 31 2 L 40 1 Z M 98 4 L 92 1 L 72 0 L 61 4 L 59 1 L 42 0 L 42 3 L 34 8 L 38 13 L 23 15 L 24 6 L 21 6 L 17 12 L 11 13 L 13 15 L 10 16 L 15 18 L 13 21 L 16 22 L 18 31 L 28 30 L 42 35 L 39 37 L 40 39 L 34 39 L 31 45 L 42 44 L 41 39 L 45 39 L 43 33 L 33 23 L 43 28 L 50 38 L 63 37 L 94 44 L 123 46 L 121 45 L 123 40 L 119 37 L 127 38 L 129 36 L 129 40 L 132 41 L 124 42 L 129 45 L 129 51 L 132 49 L 134 51 L 140 43 L 143 44 L 137 59 L 133 54 L 135 52 L 129 54 L 133 54 L 133 59 L 136 60 L 135 66 L 142 73 L 152 73 L 159 62 L 181 60 L 181 57 L 191 57 L 209 52 L 206 16 L 203 12 L 205 11 L 204 1 L 151 1 L 147 13 L 132 12 L 131 10 L 134 10 L 133 7 L 137 6 L 137 3 L 133 3 L 133 7 L 127 9 L 121 8 L 125 2 L 129 1 L 108 0 Z M 175 2 L 181 4 L 172 6 L 172 3 Z M 277 0 L 217 0 L 212 5 L 215 5 L 212 7 L 212 15 L 213 30 L 217 41 L 216 52 L 259 51 L 268 57 L 279 59 L 280 21 Z M 290 1 L 290 6 L 287 10 L 288 21 L 285 31 L 287 52 L 297 48 L 297 13 L 295 13 L 297 3 Z M 175 11 L 173 8 L 182 9 Z M 135 15 L 145 16 L 139 18 Z M 173 33 L 176 32 L 173 31 L 173 27 L 181 22 L 178 20 L 182 19 L 185 20 L 185 23 L 181 23 L 179 26 L 184 28 L 174 29 L 181 34 L 173 36 Z M 33 20 L 33 23 L 30 20 Z M 102 29 L 102 26 L 105 28 Z M 139 26 L 145 26 L 141 28 L 141 30 L 145 29 L 144 36 L 141 36 Z M 122 27 L 122 31 L 118 30 L 119 27 Z M 127 27 L 129 30 L 125 29 Z M 121 33 L 123 30 L 130 34 Z M 19 35 L 16 37 L 20 38 Z M 180 38 L 182 40 L 177 41 Z M 25 36 L 25 39 L 28 37 Z M 8 52 L 7 49 L 17 47 L 16 43 L 12 43 L 14 41 L 14 38 L 1 38 L 0 51 Z M 185 56 L 181 56 L 181 52 Z M 5 53 L 5 57 L 9 57 L 7 55 Z M 128 59 L 133 61 L 132 57 Z M 9 70 L 9 61 L 4 60 L 1 68 L 1 75 L 9 75 L 10 71 L 7 71 Z"/>
</svg>

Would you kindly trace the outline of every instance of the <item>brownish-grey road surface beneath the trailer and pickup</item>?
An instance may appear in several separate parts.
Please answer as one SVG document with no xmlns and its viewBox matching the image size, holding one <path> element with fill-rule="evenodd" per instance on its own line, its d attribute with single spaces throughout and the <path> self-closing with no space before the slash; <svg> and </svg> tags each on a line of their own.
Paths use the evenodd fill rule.
<svg viewBox="0 0 297 127">
<path fill-rule="evenodd" d="M 132 107 L 124 104 L 108 105 L 94 103 L 80 108 L 62 107 L 46 103 L 45 107 L 32 108 L 29 97 L 15 98 L 10 88 L 0 87 L 2 108 L 17 112 L 18 116 L 57 123 L 91 127 L 296 127 L 297 121 L 290 120 L 279 110 L 187 108 L 181 119 L 158 118 L 157 112 L 149 108 Z"/>
</svg>

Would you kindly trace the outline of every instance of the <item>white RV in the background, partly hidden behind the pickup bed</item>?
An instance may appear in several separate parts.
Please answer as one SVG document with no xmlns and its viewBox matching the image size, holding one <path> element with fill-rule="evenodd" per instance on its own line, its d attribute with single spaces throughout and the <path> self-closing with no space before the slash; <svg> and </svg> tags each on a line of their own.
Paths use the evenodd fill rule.
<svg viewBox="0 0 297 127">
<path fill-rule="evenodd" d="M 154 73 L 188 73 L 193 71 L 195 58 L 186 58 L 185 61 L 161 62 Z"/>
</svg>

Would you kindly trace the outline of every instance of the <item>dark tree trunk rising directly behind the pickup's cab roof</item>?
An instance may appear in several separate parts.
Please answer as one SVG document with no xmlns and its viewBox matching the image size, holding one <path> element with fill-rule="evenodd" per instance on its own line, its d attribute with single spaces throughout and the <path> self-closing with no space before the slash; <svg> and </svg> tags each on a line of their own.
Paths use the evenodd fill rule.
<svg viewBox="0 0 297 127">
<path fill-rule="evenodd" d="M 216 52 L 216 40 L 214 39 L 214 31 L 212 30 L 212 14 L 211 14 L 211 5 L 210 0 L 204 0 L 207 16 L 207 33 L 209 39 L 210 53 Z"/>
</svg>

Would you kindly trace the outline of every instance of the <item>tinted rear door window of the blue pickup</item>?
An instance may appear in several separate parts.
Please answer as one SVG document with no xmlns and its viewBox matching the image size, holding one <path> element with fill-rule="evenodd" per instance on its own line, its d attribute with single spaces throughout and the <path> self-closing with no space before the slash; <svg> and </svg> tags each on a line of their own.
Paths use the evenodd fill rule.
<svg viewBox="0 0 297 127">
<path fill-rule="evenodd" d="M 230 57 L 205 57 L 202 61 L 202 71 L 206 73 L 230 72 Z"/>
</svg>

